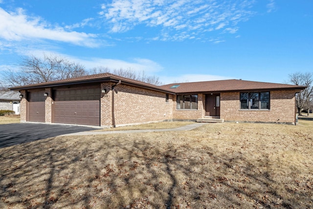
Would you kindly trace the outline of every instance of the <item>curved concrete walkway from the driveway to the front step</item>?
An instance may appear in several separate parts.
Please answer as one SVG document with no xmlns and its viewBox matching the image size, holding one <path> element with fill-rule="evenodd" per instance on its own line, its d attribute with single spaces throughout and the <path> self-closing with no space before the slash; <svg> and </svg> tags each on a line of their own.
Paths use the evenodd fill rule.
<svg viewBox="0 0 313 209">
<path fill-rule="evenodd" d="M 62 136 L 81 136 L 81 135 L 100 135 L 100 134 L 130 134 L 130 133 L 149 133 L 149 132 L 166 132 L 166 131 L 190 131 L 207 123 L 193 123 L 179 128 L 170 129 L 147 129 L 147 130 L 126 130 L 126 131 L 84 131 Z"/>
</svg>

